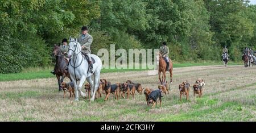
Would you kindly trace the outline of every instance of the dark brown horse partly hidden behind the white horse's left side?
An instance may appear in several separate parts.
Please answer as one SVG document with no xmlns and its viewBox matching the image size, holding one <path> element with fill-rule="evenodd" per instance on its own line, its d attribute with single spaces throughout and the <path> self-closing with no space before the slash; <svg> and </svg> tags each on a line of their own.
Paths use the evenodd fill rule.
<svg viewBox="0 0 256 133">
<path fill-rule="evenodd" d="M 69 80 L 72 81 L 70 76 L 69 76 L 68 71 L 65 70 L 65 66 L 67 66 L 68 61 L 66 59 L 64 59 L 64 54 L 61 53 L 60 47 L 58 45 L 54 45 L 52 55 L 56 56 L 56 63 L 55 63 L 55 66 L 54 66 L 54 72 L 55 72 L 57 80 L 58 80 L 59 92 L 60 92 L 61 91 L 60 84 L 61 84 L 61 82 L 63 82 L 65 77 L 68 77 Z M 60 80 L 60 77 L 61 77 L 61 80 Z"/>
</svg>

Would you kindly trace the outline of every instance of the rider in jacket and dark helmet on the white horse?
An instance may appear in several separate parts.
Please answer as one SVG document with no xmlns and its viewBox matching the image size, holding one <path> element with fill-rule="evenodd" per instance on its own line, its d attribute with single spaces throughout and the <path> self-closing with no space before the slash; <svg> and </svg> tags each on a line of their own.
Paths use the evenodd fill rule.
<svg viewBox="0 0 256 133">
<path fill-rule="evenodd" d="M 82 54 L 84 56 L 87 55 L 89 57 L 90 73 L 93 73 L 93 61 L 90 57 L 90 45 L 92 44 L 93 37 L 88 34 L 88 28 L 86 26 L 82 26 L 81 31 L 82 31 L 82 34 L 79 36 L 77 41 L 81 45 Z M 68 70 L 68 67 L 66 68 L 66 70 Z"/>
</svg>

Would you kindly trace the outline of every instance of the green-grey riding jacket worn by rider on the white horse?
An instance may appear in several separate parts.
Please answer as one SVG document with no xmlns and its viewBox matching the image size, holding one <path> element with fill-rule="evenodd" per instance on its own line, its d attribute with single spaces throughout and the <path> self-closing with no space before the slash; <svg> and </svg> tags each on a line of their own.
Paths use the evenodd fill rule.
<svg viewBox="0 0 256 133">
<path fill-rule="evenodd" d="M 82 49 L 82 52 L 84 53 L 90 53 L 90 44 L 92 44 L 93 38 L 91 35 L 86 34 L 85 38 L 82 39 L 82 34 L 79 36 L 79 38 L 77 39 L 77 41 L 80 43 L 80 45 L 84 45 L 85 48 Z"/>
</svg>

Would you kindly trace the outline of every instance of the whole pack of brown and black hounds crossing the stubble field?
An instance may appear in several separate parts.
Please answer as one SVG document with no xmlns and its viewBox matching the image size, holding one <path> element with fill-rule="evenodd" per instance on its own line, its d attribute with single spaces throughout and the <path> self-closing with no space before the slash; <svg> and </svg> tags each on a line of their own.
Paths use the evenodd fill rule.
<svg viewBox="0 0 256 133">
<path fill-rule="evenodd" d="M 158 101 L 161 107 L 163 97 L 162 93 L 167 95 L 169 94 L 170 90 L 169 85 L 166 82 L 163 82 L 163 84 L 158 85 L 158 89 L 142 88 L 142 85 L 140 83 L 134 83 L 131 80 L 127 80 L 123 83 L 116 82 L 115 84 L 111 84 L 111 82 L 107 81 L 104 78 L 101 79 L 98 84 L 99 87 L 97 90 L 96 98 L 102 97 L 102 95 L 105 94 L 104 100 L 106 101 L 109 99 L 110 94 L 114 94 L 115 99 L 117 99 L 117 101 L 121 97 L 129 99 L 130 95 L 132 95 L 133 99 L 135 99 L 135 92 L 143 94 L 144 90 L 147 106 L 152 105 L 152 108 L 155 107 L 155 105 L 158 106 Z M 84 86 L 85 91 L 88 94 L 87 98 L 90 98 L 90 84 L 86 83 Z M 201 98 L 203 94 L 203 88 L 205 88 L 204 79 L 198 78 L 192 87 L 193 96 L 195 97 L 195 94 L 198 94 L 198 96 Z M 65 98 L 66 92 L 69 92 L 70 98 L 75 97 L 75 88 L 72 82 L 62 82 L 61 88 L 64 90 L 63 98 Z M 182 101 L 182 96 L 185 96 L 186 99 L 188 100 L 190 88 L 191 85 L 189 84 L 188 81 L 184 81 L 181 84 L 179 84 L 180 101 Z"/>
</svg>

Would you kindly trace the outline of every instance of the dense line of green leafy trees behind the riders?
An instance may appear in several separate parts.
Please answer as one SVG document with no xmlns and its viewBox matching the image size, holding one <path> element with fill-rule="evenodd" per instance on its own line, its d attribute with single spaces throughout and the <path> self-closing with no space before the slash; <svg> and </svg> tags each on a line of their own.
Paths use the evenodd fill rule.
<svg viewBox="0 0 256 133">
<path fill-rule="evenodd" d="M 159 48 L 174 61 L 221 60 L 224 45 L 240 61 L 256 48 L 256 6 L 246 0 L 1 0 L 0 73 L 53 64 L 54 44 L 81 26 L 100 48 Z"/>
</svg>

